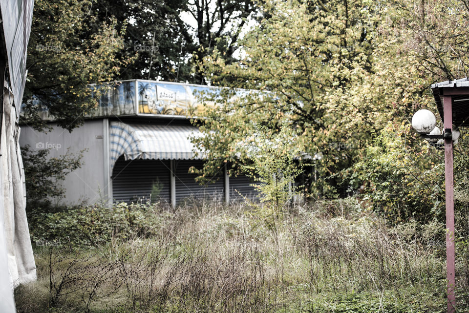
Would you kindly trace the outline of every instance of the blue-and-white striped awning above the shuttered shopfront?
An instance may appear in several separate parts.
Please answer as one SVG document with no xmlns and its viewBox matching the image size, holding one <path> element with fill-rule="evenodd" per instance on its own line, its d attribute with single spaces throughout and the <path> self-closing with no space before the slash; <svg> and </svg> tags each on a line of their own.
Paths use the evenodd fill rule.
<svg viewBox="0 0 469 313">
<path fill-rule="evenodd" d="M 124 155 L 126 160 L 189 160 L 195 157 L 190 137 L 199 136 L 197 127 L 183 125 L 143 125 L 111 122 L 110 163 Z"/>
</svg>

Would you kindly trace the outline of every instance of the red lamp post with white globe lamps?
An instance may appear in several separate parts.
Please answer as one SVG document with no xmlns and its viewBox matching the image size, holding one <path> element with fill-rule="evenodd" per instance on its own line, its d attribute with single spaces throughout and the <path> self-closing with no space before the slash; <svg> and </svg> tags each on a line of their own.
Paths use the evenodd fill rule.
<svg viewBox="0 0 469 313">
<path fill-rule="evenodd" d="M 445 202 L 446 202 L 446 271 L 448 280 L 448 313 L 455 313 L 454 278 L 454 178 L 453 178 L 453 141 L 457 143 L 459 130 L 452 126 L 452 99 L 444 96 L 444 130 L 436 127 L 435 115 L 429 110 L 419 110 L 412 117 L 412 127 L 430 143 L 444 141 L 445 148 Z"/>
</svg>

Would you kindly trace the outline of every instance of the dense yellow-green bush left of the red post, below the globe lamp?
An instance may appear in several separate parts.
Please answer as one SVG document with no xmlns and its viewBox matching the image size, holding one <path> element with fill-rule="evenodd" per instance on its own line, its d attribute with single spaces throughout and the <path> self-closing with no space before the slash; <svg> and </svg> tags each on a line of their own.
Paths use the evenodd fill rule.
<svg viewBox="0 0 469 313">
<path fill-rule="evenodd" d="M 405 123 L 389 122 L 345 174 L 351 188 L 362 185 L 363 200 L 392 223 L 427 221 L 444 211 L 444 163 L 426 141 L 412 136 Z"/>
</svg>

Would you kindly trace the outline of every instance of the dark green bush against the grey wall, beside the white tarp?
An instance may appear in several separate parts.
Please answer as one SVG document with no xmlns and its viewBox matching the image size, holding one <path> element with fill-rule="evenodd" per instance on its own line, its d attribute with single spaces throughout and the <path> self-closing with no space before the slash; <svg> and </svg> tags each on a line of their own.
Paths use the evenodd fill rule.
<svg viewBox="0 0 469 313">
<path fill-rule="evenodd" d="M 32 151 L 27 145 L 21 147 L 28 211 L 48 208 L 52 200 L 64 198 L 64 188 L 59 181 L 82 165 L 81 153 L 75 155 L 67 151 L 58 158 L 48 158 L 48 154 L 48 149 Z"/>
</svg>

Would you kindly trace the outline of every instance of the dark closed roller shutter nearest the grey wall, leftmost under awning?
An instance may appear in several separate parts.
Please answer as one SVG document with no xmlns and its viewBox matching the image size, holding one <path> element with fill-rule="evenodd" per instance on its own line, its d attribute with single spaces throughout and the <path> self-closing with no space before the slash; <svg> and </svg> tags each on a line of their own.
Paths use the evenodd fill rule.
<svg viewBox="0 0 469 313">
<path fill-rule="evenodd" d="M 112 196 L 115 201 L 149 200 L 153 183 L 160 182 L 159 197 L 170 201 L 170 161 L 129 160 L 121 156 L 112 171 Z"/>
</svg>

